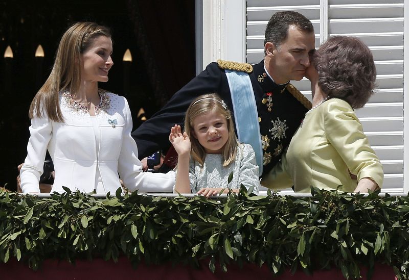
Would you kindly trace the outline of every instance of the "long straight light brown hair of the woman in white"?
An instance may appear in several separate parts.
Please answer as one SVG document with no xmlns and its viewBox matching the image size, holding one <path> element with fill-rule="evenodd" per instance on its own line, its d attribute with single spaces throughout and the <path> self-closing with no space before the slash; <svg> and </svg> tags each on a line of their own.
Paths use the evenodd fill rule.
<svg viewBox="0 0 409 280">
<path fill-rule="evenodd" d="M 58 94 L 64 89 L 75 93 L 81 82 L 81 54 L 99 36 L 111 37 L 107 27 L 95 22 L 77 22 L 67 31 L 60 40 L 53 69 L 46 83 L 38 90 L 30 105 L 29 117 L 42 117 L 44 113 L 57 122 L 64 122 Z"/>
</svg>

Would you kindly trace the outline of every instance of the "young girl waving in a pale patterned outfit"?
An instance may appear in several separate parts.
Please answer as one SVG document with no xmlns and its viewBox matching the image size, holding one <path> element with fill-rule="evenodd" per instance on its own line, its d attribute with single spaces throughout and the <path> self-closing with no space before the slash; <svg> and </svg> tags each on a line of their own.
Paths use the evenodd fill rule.
<svg viewBox="0 0 409 280">
<path fill-rule="evenodd" d="M 185 132 L 175 125 L 169 141 L 178 154 L 175 191 L 210 197 L 222 189 L 238 192 L 243 184 L 258 192 L 254 150 L 237 140 L 230 111 L 217 94 L 194 99 L 186 112 Z M 233 180 L 228 184 L 231 173 Z"/>
</svg>

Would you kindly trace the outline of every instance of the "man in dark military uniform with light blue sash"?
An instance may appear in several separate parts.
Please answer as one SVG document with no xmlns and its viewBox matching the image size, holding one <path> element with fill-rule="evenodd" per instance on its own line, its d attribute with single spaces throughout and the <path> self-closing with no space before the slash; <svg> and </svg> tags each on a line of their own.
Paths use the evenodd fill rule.
<svg viewBox="0 0 409 280">
<path fill-rule="evenodd" d="M 256 65 L 220 60 L 209 64 L 176 92 L 162 110 L 132 133 L 139 157 L 166 150 L 170 146 L 171 126 L 183 124 L 191 101 L 201 94 L 215 92 L 233 111 L 239 141 L 252 144 L 262 170 L 260 175 L 266 174 L 280 160 L 311 108 L 310 102 L 289 81 L 303 79 L 314 47 L 314 29 L 306 17 L 297 12 L 272 15 L 265 31 L 264 60 Z M 245 79 L 248 82 L 237 87 Z M 237 101 L 236 97 L 242 93 L 247 94 L 246 97 Z M 246 103 L 247 99 L 252 101 L 240 103 Z M 245 127 L 238 127 L 243 126 L 242 123 Z"/>
</svg>

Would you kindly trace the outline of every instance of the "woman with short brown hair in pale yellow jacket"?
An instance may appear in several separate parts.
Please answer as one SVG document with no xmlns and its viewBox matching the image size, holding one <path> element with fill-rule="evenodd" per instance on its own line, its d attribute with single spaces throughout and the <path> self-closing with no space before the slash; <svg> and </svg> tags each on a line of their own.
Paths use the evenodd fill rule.
<svg viewBox="0 0 409 280">
<path fill-rule="evenodd" d="M 371 50 L 358 38 L 336 36 L 323 43 L 312 59 L 307 78 L 313 107 L 281 165 L 261 184 L 277 189 L 293 185 L 296 192 L 310 192 L 310 186 L 347 192 L 381 188 L 382 165 L 354 112 L 374 92 Z"/>
</svg>

